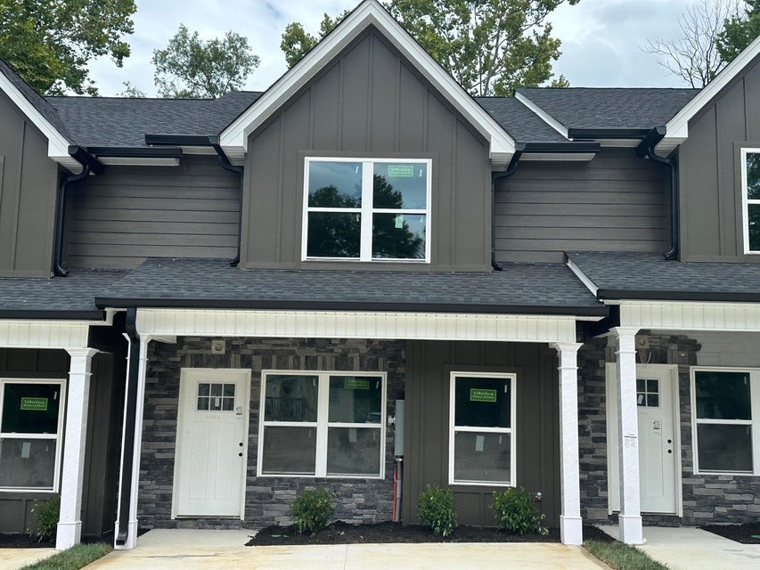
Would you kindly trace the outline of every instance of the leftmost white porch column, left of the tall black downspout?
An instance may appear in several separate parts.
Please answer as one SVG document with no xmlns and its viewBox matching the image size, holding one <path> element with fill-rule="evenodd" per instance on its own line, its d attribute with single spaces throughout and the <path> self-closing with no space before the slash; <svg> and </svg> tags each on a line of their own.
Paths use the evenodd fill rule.
<svg viewBox="0 0 760 570">
<path fill-rule="evenodd" d="M 82 536 L 82 484 L 85 476 L 87 436 L 87 404 L 90 395 L 93 348 L 67 349 L 69 364 L 68 403 L 63 442 L 63 475 L 61 477 L 61 516 L 55 548 L 68 549 Z"/>
</svg>

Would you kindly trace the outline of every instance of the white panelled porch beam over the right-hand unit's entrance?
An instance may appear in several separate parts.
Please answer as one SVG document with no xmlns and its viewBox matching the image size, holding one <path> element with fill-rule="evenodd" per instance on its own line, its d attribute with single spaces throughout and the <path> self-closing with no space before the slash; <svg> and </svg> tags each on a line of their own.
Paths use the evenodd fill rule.
<svg viewBox="0 0 760 570">
<path fill-rule="evenodd" d="M 616 303 L 617 304 L 617 303 Z M 612 303 L 608 303 L 612 305 Z M 760 331 L 760 303 L 621 301 L 620 326 L 638 329 Z"/>
</svg>

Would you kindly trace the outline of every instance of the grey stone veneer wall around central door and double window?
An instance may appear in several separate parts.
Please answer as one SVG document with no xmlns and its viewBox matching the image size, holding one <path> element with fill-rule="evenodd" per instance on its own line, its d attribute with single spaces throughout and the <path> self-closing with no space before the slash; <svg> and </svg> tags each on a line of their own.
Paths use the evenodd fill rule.
<svg viewBox="0 0 760 570">
<path fill-rule="evenodd" d="M 393 492 L 394 430 L 386 427 L 385 478 L 257 477 L 262 370 L 387 372 L 386 413 L 404 398 L 405 341 L 319 338 L 225 338 L 225 354 L 211 354 L 209 338 L 151 343 L 145 386 L 138 519 L 153 528 L 261 528 L 290 524 L 290 501 L 306 487 L 325 486 L 336 498 L 336 517 L 354 523 L 388 521 Z M 252 371 L 245 520 L 171 519 L 176 418 L 182 368 Z"/>
</svg>

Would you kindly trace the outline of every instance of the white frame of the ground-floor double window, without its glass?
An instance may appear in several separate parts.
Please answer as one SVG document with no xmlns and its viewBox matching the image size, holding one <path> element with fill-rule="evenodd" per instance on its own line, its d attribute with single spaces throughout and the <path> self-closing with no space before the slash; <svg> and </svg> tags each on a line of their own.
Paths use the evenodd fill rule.
<svg viewBox="0 0 760 570">
<path fill-rule="evenodd" d="M 316 376 L 317 382 L 317 412 L 316 421 L 265 421 L 266 403 L 266 378 L 272 375 L 287 376 Z M 375 377 L 380 379 L 380 424 L 361 424 L 328 421 L 330 412 L 330 377 L 331 376 L 361 376 Z M 388 389 L 388 374 L 386 372 L 364 371 L 288 371 L 266 370 L 261 371 L 261 402 L 258 412 L 258 450 L 257 450 L 257 476 L 259 477 L 289 477 L 289 478 L 327 478 L 327 479 L 385 479 L 386 458 L 386 391 Z M 267 427 L 275 428 L 315 428 L 316 430 L 316 458 L 315 474 L 294 475 L 292 473 L 264 473 L 264 435 Z M 327 474 L 327 430 L 328 428 L 362 428 L 380 430 L 380 475 L 328 475 Z"/>
</svg>

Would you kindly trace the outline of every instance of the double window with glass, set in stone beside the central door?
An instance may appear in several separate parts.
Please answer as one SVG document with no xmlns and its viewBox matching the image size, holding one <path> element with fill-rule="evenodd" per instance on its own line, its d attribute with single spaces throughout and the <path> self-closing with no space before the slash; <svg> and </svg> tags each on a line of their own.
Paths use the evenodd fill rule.
<svg viewBox="0 0 760 570">
<path fill-rule="evenodd" d="M 262 373 L 259 476 L 382 478 L 385 375 Z"/>
</svg>

